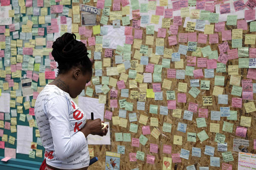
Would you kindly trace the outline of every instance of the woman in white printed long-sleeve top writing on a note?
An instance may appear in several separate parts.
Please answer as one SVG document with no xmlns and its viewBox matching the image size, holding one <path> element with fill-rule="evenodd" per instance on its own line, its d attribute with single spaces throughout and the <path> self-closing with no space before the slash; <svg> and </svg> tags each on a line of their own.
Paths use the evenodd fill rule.
<svg viewBox="0 0 256 170">
<path fill-rule="evenodd" d="M 72 99 L 90 82 L 92 63 L 87 48 L 76 40 L 75 34 L 65 33 L 53 42 L 52 48 L 58 77 L 45 86 L 35 103 L 35 118 L 45 148 L 40 170 L 87 170 L 87 136 L 104 136 L 108 132 L 108 126 L 102 128 L 104 121 L 86 119 Z"/>
</svg>

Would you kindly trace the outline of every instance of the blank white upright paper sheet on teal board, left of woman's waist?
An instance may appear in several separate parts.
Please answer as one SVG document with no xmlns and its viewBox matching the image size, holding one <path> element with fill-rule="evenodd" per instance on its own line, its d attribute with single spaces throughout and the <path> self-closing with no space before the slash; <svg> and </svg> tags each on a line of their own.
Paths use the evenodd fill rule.
<svg viewBox="0 0 256 170">
<path fill-rule="evenodd" d="M 29 155 L 33 142 L 33 127 L 17 125 L 17 148 L 16 153 Z"/>
</svg>

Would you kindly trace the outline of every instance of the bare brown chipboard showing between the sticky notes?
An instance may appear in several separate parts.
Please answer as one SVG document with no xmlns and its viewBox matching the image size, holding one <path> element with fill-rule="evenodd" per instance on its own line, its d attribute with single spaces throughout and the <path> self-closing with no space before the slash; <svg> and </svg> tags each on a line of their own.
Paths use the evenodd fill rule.
<svg viewBox="0 0 256 170">
<path fill-rule="evenodd" d="M 73 3 L 73 5 L 78 5 L 78 3 Z M 87 5 L 96 6 L 96 3 L 90 2 L 90 3 L 87 3 Z M 122 10 L 122 6 L 121 6 L 121 10 Z M 111 11 L 112 11 L 112 7 L 111 7 Z M 101 15 L 97 16 L 97 24 L 99 24 L 99 22 L 100 22 L 100 17 L 101 17 Z M 184 23 L 184 18 L 183 18 L 183 23 Z M 108 25 L 112 25 L 112 22 L 108 21 Z M 171 25 L 172 25 L 172 20 L 171 20 Z M 249 25 L 250 24 L 248 24 L 248 30 L 249 30 Z M 79 26 L 80 26 L 80 24 L 79 24 Z M 122 26 L 122 20 L 121 20 L 121 26 Z M 131 20 L 131 25 L 129 25 L 129 26 L 132 26 L 132 20 Z M 87 28 L 92 29 L 92 26 L 88 26 Z M 236 28 L 236 26 L 225 26 L 225 30 L 232 30 L 232 29 L 235 29 L 235 28 Z M 145 31 L 145 28 L 141 27 L 140 29 L 143 30 L 142 44 L 145 45 L 146 31 Z M 255 47 L 255 45 L 244 45 L 245 34 L 254 34 L 254 33 L 250 33 L 248 30 L 243 31 L 243 46 Z M 169 33 L 168 33 L 167 28 L 166 28 L 166 31 L 167 31 L 167 33 L 166 33 L 166 38 L 165 38 L 165 48 L 171 48 L 171 49 L 173 49 L 173 52 L 177 52 L 179 46 L 178 45 L 172 45 L 172 46 L 169 45 L 169 42 L 168 42 Z M 185 28 L 183 28 L 183 24 L 182 24 L 182 26 L 179 26 L 178 33 L 180 33 L 180 32 L 181 33 L 189 33 L 188 31 L 185 31 Z M 201 32 L 201 31 L 195 31 L 195 32 L 204 33 L 204 32 Z M 222 42 L 221 41 L 221 32 L 214 32 L 214 33 L 219 34 L 218 40 L 219 40 L 219 43 L 221 43 Z M 133 35 L 134 35 L 134 30 L 133 30 Z M 198 36 L 198 34 L 197 34 L 197 36 Z M 155 40 L 156 40 L 156 38 L 157 38 L 157 32 L 155 31 L 154 32 L 154 45 L 148 45 L 148 48 L 153 48 L 153 53 L 155 52 Z M 81 39 L 85 40 L 86 38 L 84 36 L 81 36 Z M 229 40 L 227 42 L 230 46 L 230 49 L 232 49 L 231 48 L 231 40 Z M 187 45 L 187 43 L 183 43 L 183 42 L 179 43 L 179 44 Z M 207 44 L 198 43 L 198 47 L 205 47 L 207 45 L 209 45 L 209 36 L 207 38 Z M 211 44 L 210 46 L 211 46 L 212 51 L 218 50 L 218 44 Z M 134 52 L 135 52 L 136 49 L 133 48 L 133 45 L 131 45 L 131 47 L 132 47 L 131 48 L 131 51 L 132 51 L 131 59 L 133 59 L 133 55 L 134 55 Z M 87 47 L 87 48 L 92 51 L 92 58 L 93 58 L 94 46 Z M 139 49 L 137 49 L 137 50 L 139 50 Z M 105 51 L 105 49 L 103 48 L 102 49 L 102 58 L 104 58 L 104 51 Z M 192 53 L 191 51 L 188 51 L 187 56 L 191 56 L 191 53 Z M 219 50 L 218 50 L 218 54 L 219 54 Z M 115 55 L 115 51 L 113 52 L 113 57 L 111 58 L 111 67 L 116 66 L 114 55 Z M 201 57 L 203 57 L 203 56 L 201 56 Z M 161 58 L 163 58 L 163 56 L 160 57 L 160 60 L 159 60 L 159 63 L 158 63 L 159 65 L 162 64 L 161 63 L 161 61 L 162 61 Z M 184 68 L 183 69 L 185 69 L 186 65 L 187 65 L 186 56 L 180 54 L 180 58 L 184 59 L 184 65 L 183 65 Z M 102 59 L 102 61 L 103 61 L 103 59 Z M 150 59 L 149 59 L 149 63 L 151 63 Z M 145 102 L 145 111 L 137 111 L 137 100 L 136 99 L 130 99 L 130 95 L 129 95 L 129 98 L 121 97 L 120 96 L 121 91 L 119 90 L 117 100 L 126 99 L 127 102 L 132 102 L 133 103 L 133 112 L 127 111 L 126 119 L 128 119 L 128 113 L 136 112 L 137 113 L 137 120 L 140 119 L 141 114 L 143 114 L 145 116 L 148 116 L 149 119 L 148 119 L 147 125 L 150 125 L 150 117 L 155 117 L 155 118 L 159 119 L 158 129 L 161 131 L 162 134 L 159 136 L 158 139 L 155 139 L 151 135 L 145 135 L 148 138 L 148 142 L 145 144 L 145 146 L 140 144 L 139 148 L 138 147 L 132 147 L 131 142 L 116 142 L 115 133 L 119 133 L 119 132 L 131 133 L 131 138 L 139 138 L 140 135 L 142 134 L 143 125 L 140 124 L 138 121 L 137 122 L 132 122 L 132 123 L 135 123 L 135 124 L 138 125 L 137 133 L 133 133 L 133 132 L 129 131 L 129 128 L 130 128 L 129 120 L 128 120 L 128 124 L 127 124 L 126 128 L 120 127 L 119 125 L 113 125 L 112 121 L 110 121 L 110 129 L 109 130 L 111 132 L 111 145 L 103 145 L 103 146 L 102 145 L 100 145 L 100 146 L 99 145 L 89 145 L 89 148 L 94 148 L 94 156 L 97 156 L 99 158 L 99 161 L 97 161 L 95 164 L 90 166 L 90 169 L 105 169 L 105 153 L 106 153 L 106 151 L 117 152 L 117 145 L 124 145 L 125 146 L 125 154 L 124 155 L 121 154 L 121 162 L 120 162 L 120 169 L 121 170 L 131 170 L 133 168 L 139 168 L 140 170 L 162 169 L 163 168 L 162 167 L 163 166 L 163 157 L 164 156 L 171 157 L 171 154 L 163 153 L 163 144 L 169 144 L 169 145 L 172 145 L 172 153 L 180 153 L 181 148 L 190 151 L 189 160 L 186 160 L 186 159 L 182 158 L 181 163 L 176 163 L 176 164 L 172 163 L 172 170 L 183 170 L 183 169 L 186 169 L 186 166 L 189 166 L 189 165 L 192 165 L 192 164 L 195 164 L 195 167 L 196 167 L 197 170 L 199 170 L 199 167 L 204 167 L 204 166 L 209 167 L 210 170 L 221 169 L 222 163 L 232 164 L 232 167 L 233 167 L 232 169 L 236 170 L 237 166 L 238 166 L 238 152 L 233 151 L 233 139 L 234 138 L 241 139 L 241 137 L 236 136 L 236 127 L 240 125 L 241 116 L 250 116 L 250 117 L 252 117 L 251 127 L 247 128 L 247 136 L 244 139 L 247 139 L 247 140 L 250 141 L 250 147 L 247 148 L 248 152 L 249 153 L 256 153 L 255 150 L 253 150 L 253 139 L 256 139 L 256 133 L 253 131 L 253 129 L 255 128 L 255 123 L 256 122 L 255 122 L 254 112 L 245 113 L 244 106 L 242 107 L 242 109 L 240 109 L 240 108 L 230 108 L 230 110 L 238 112 L 237 121 L 227 120 L 226 117 L 221 117 L 221 121 L 213 121 L 213 120 L 210 119 L 210 111 L 219 111 L 220 107 L 228 107 L 228 106 L 232 107 L 232 97 L 238 97 L 238 96 L 231 95 L 233 85 L 229 84 L 230 75 L 228 75 L 228 72 L 227 72 L 228 65 L 238 65 L 238 59 L 232 59 L 232 60 L 229 60 L 227 62 L 225 73 L 216 73 L 216 70 L 214 69 L 215 70 L 214 71 L 215 76 L 216 75 L 225 76 L 225 85 L 220 86 L 220 87 L 224 88 L 223 94 L 228 94 L 228 105 L 218 105 L 218 97 L 212 95 L 212 91 L 213 91 L 213 88 L 214 88 L 214 78 L 202 78 L 201 80 L 210 80 L 210 90 L 201 90 L 201 93 L 196 98 L 193 98 L 190 94 L 188 94 L 188 91 L 191 89 L 190 79 L 194 79 L 194 77 L 185 76 L 185 79 L 170 79 L 170 78 L 167 78 L 167 68 L 163 68 L 163 70 L 162 70 L 162 81 L 163 81 L 163 79 L 169 79 L 169 80 L 172 81 L 171 90 L 175 91 L 176 108 L 182 109 L 181 119 L 172 117 L 172 110 L 169 110 L 168 116 L 164 116 L 164 115 L 159 114 L 160 105 L 167 106 L 167 101 L 166 101 L 166 90 L 167 89 L 165 89 L 165 88 L 161 88 L 162 91 L 163 91 L 163 101 L 155 101 L 154 99 L 147 98 L 147 101 Z M 144 71 L 145 71 L 145 65 L 143 67 L 144 67 Z M 171 62 L 170 68 L 175 68 L 174 62 Z M 195 66 L 195 69 L 198 69 L 197 66 Z M 246 78 L 247 70 L 248 70 L 248 68 L 239 68 L 239 75 L 241 75 L 241 79 L 247 79 Z M 204 71 L 204 69 L 203 69 L 203 71 Z M 129 69 L 127 69 L 125 71 L 125 74 L 128 74 L 128 72 L 129 72 Z M 140 73 L 140 74 L 143 74 L 143 73 Z M 105 67 L 102 67 L 102 76 L 107 76 Z M 119 80 L 119 76 L 112 76 L 112 77 Z M 128 78 L 128 80 L 129 80 L 129 78 Z M 125 83 L 126 88 L 129 88 L 128 80 Z M 100 82 L 101 82 L 101 77 L 100 77 Z M 188 87 L 187 87 L 187 94 L 186 94 L 186 103 L 178 103 L 177 102 L 177 93 L 178 93 L 177 85 L 178 85 L 179 82 L 188 83 L 187 84 Z M 255 80 L 253 80 L 253 83 L 254 82 L 255 82 Z M 161 83 L 161 85 L 162 85 L 162 83 Z M 137 83 L 137 86 L 139 87 L 139 83 Z M 241 86 L 241 83 L 240 83 L 240 86 Z M 89 87 L 94 89 L 93 97 L 98 98 L 99 94 L 95 93 L 94 86 L 90 85 Z M 113 87 L 110 86 L 110 88 L 113 88 Z M 115 88 L 118 89 L 117 86 Z M 147 88 L 153 88 L 152 83 L 147 83 Z M 139 88 L 133 88 L 131 90 L 136 90 L 136 91 L 140 92 Z M 85 91 L 86 91 L 86 89 L 85 89 Z M 129 91 L 129 93 L 130 93 L 130 91 Z M 182 93 L 182 92 L 180 92 L 180 93 Z M 212 96 L 212 106 L 203 106 L 202 105 L 202 96 Z M 110 93 L 107 94 L 106 98 L 107 98 L 107 101 L 106 101 L 106 105 L 105 105 L 105 110 L 113 112 L 113 116 L 118 116 L 119 108 L 110 108 L 110 99 L 112 99 L 110 97 Z M 198 118 L 198 113 L 194 113 L 192 121 L 182 119 L 184 110 L 188 110 L 189 102 L 197 103 L 198 108 L 208 108 L 208 118 L 206 119 L 207 127 L 202 127 L 202 128 L 197 127 L 196 118 Z M 243 103 L 245 103 L 245 102 L 248 102 L 248 101 L 243 100 Z M 149 105 L 150 104 L 158 105 L 158 114 L 149 113 Z M 119 105 L 118 105 L 118 107 L 119 107 Z M 105 121 L 108 122 L 109 120 L 105 119 Z M 233 125 L 233 133 L 228 133 L 228 132 L 222 131 L 223 121 L 230 122 L 230 123 L 234 124 Z M 172 133 L 163 132 L 163 128 L 162 128 L 163 127 L 162 126 L 163 122 L 167 122 L 167 123 L 172 124 Z M 178 122 L 183 122 L 183 123 L 187 124 L 186 133 L 182 133 L 182 132 L 177 131 Z M 221 152 L 219 152 L 217 150 L 217 143 L 214 142 L 215 133 L 209 132 L 210 122 L 220 124 L 220 133 L 222 133 L 226 136 L 225 142 L 227 142 L 227 145 L 228 145 L 228 150 L 227 151 L 232 152 L 234 161 L 230 161 L 230 162 L 224 162 L 223 161 Z M 150 127 L 151 131 L 153 130 L 153 128 L 154 127 Z M 198 132 L 201 132 L 202 130 L 205 130 L 207 132 L 207 134 L 209 136 L 209 139 L 207 139 L 204 142 L 200 142 L 200 140 L 197 137 L 197 142 L 187 142 L 187 132 L 198 133 Z M 183 142 L 182 142 L 183 145 L 182 146 L 173 144 L 173 136 L 174 135 L 183 136 Z M 151 153 L 149 151 L 150 143 L 158 145 L 158 153 Z M 214 156 L 215 157 L 220 157 L 220 159 L 221 159 L 220 167 L 211 167 L 210 166 L 210 156 L 204 155 L 204 148 L 205 148 L 206 145 L 215 147 Z M 191 155 L 192 154 L 192 147 L 201 148 L 201 158 Z M 144 161 L 137 160 L 136 162 L 130 162 L 129 161 L 129 153 L 136 153 L 137 150 L 143 151 L 145 153 Z M 153 165 L 146 163 L 146 155 L 147 154 L 155 156 L 155 161 L 154 161 Z"/>
</svg>

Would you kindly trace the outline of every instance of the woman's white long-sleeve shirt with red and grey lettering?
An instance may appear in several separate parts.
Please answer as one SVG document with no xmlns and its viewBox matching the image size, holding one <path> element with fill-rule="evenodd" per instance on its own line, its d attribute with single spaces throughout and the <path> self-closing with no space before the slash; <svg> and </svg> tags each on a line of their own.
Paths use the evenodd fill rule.
<svg viewBox="0 0 256 170">
<path fill-rule="evenodd" d="M 89 166 L 87 138 L 79 131 L 86 114 L 68 93 L 55 85 L 46 85 L 35 102 L 35 119 L 47 164 L 61 169 Z"/>
</svg>

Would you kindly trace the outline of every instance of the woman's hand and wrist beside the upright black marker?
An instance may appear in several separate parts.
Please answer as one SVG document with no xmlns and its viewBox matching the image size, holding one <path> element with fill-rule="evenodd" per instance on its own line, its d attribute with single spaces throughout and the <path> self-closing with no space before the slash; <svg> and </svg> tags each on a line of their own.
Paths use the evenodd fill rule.
<svg viewBox="0 0 256 170">
<path fill-rule="evenodd" d="M 87 137 L 89 134 L 99 135 L 105 133 L 105 128 L 102 129 L 104 125 L 101 124 L 100 119 L 87 119 L 83 128 L 81 128 L 81 132 L 84 133 L 84 136 Z"/>
</svg>

